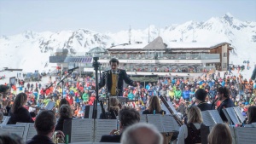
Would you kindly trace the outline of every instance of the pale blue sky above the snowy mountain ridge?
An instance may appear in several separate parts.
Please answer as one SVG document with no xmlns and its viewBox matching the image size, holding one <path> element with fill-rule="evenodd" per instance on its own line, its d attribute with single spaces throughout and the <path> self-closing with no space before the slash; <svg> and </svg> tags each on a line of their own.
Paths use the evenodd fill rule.
<svg viewBox="0 0 256 144">
<path fill-rule="evenodd" d="M 0 35 L 26 30 L 119 32 L 205 21 L 227 12 L 256 21 L 256 0 L 0 0 Z"/>
</svg>

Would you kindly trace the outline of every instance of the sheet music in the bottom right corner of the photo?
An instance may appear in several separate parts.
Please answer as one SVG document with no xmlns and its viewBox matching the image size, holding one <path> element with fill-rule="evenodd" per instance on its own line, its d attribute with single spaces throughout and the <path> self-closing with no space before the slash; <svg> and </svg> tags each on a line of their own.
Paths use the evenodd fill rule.
<svg viewBox="0 0 256 144">
<path fill-rule="evenodd" d="M 235 129 L 236 144 L 255 144 L 255 128 L 237 127 Z"/>
</svg>

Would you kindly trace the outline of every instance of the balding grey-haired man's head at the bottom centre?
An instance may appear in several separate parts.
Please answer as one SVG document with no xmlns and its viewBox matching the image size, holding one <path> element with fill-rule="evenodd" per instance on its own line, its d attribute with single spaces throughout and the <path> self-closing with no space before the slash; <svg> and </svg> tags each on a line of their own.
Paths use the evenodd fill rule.
<svg viewBox="0 0 256 144">
<path fill-rule="evenodd" d="M 121 144 L 162 144 L 163 137 L 153 124 L 138 123 L 127 128 Z"/>
</svg>

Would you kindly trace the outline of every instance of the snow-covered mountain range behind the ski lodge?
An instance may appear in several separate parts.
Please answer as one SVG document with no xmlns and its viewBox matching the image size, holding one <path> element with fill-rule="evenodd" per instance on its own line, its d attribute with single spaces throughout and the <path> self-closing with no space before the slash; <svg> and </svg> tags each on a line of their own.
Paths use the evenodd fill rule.
<svg viewBox="0 0 256 144">
<path fill-rule="evenodd" d="M 175 41 L 228 42 L 234 48 L 230 63 L 241 64 L 243 60 L 250 60 L 252 64 L 256 62 L 256 21 L 237 20 L 229 13 L 202 22 L 190 20 L 181 25 L 131 30 L 131 43 L 148 43 L 148 40 L 152 41 L 158 36 L 163 37 L 167 45 Z M 109 48 L 113 43 L 128 42 L 128 30 L 105 34 L 84 29 L 74 32 L 26 31 L 14 36 L 1 36 L 0 68 L 23 68 L 25 72 L 48 70 L 51 66 L 49 55 L 56 49 L 68 49 L 69 54 L 76 54 L 98 46 Z"/>
</svg>

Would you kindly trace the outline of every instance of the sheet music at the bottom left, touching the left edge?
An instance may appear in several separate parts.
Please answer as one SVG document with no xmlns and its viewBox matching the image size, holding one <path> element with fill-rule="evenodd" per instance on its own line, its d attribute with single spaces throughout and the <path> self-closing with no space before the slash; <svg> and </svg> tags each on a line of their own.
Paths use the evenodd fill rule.
<svg viewBox="0 0 256 144">
<path fill-rule="evenodd" d="M 20 126 L 16 124 L 3 125 L 0 128 L 0 135 L 6 134 L 6 133 L 14 133 L 23 138 L 24 130 L 25 130 L 25 126 L 21 126 L 21 125 Z"/>
</svg>

